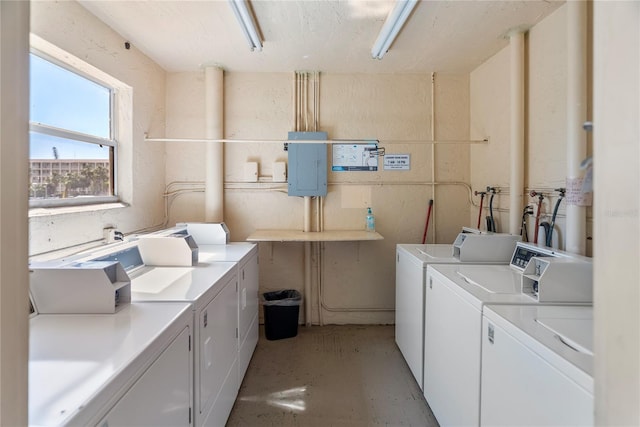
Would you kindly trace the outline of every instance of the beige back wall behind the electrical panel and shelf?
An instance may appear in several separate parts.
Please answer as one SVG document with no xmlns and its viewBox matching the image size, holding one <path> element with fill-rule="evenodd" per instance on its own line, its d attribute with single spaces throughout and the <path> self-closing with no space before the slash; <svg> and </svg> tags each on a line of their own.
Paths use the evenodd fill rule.
<svg viewBox="0 0 640 427">
<path fill-rule="evenodd" d="M 225 73 L 225 137 L 286 138 L 294 127 L 293 82 L 293 72 Z M 436 75 L 435 82 L 437 139 L 467 140 L 468 76 Z M 201 138 L 203 73 L 169 75 L 167 94 L 166 136 Z M 462 226 L 469 225 L 468 144 L 436 147 L 434 197 L 431 145 L 406 142 L 431 140 L 431 97 L 430 75 L 320 75 L 319 130 L 328 132 L 330 139 L 379 139 L 389 154 L 411 154 L 411 170 L 384 171 L 380 161 L 378 172 L 329 172 L 325 229 L 363 228 L 366 203 L 361 200 L 368 200 L 377 231 L 385 239 L 321 246 L 321 256 L 314 255 L 312 266 L 314 322 L 319 320 L 318 269 L 324 303 L 330 308 L 323 312 L 325 322 L 393 322 L 389 309 L 394 307 L 395 245 L 421 241 L 430 198 L 435 198 L 430 242 L 434 230 L 438 242 L 450 243 Z M 194 189 L 172 200 L 169 224 L 203 220 L 203 150 L 201 143 L 167 144 L 167 185 Z M 286 184 L 270 182 L 273 162 L 286 159 L 280 143 L 225 144 L 225 222 L 232 240 L 244 240 L 256 229 L 302 230 L 303 200 L 287 196 Z M 244 182 L 248 161 L 259 163 L 262 182 Z M 175 183 L 185 180 L 191 183 Z M 260 246 L 260 291 L 301 289 L 302 244 Z"/>
</svg>

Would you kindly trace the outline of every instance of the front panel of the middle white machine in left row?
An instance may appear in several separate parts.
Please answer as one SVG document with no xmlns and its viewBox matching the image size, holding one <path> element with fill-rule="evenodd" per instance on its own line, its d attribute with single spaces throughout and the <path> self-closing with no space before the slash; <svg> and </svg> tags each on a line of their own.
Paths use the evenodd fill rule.
<svg viewBox="0 0 640 427">
<path fill-rule="evenodd" d="M 209 410 L 225 387 L 225 381 L 233 381 L 232 390 L 238 391 L 236 372 L 229 375 L 238 356 L 237 325 L 238 296 L 236 276 L 223 285 L 223 289 L 198 314 L 198 368 L 196 387 L 199 389 L 198 416 L 208 416 Z M 228 378 L 232 377 L 232 378 Z M 198 384 L 199 383 L 199 384 Z M 223 397 L 224 398 L 224 397 Z M 233 396 L 235 399 L 235 395 Z M 200 424 L 199 424 L 200 425 Z"/>
</svg>

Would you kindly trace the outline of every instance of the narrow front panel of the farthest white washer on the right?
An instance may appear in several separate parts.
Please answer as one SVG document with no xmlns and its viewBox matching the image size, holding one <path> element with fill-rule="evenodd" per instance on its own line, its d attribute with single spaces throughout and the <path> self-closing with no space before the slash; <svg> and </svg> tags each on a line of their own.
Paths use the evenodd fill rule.
<svg viewBox="0 0 640 427">
<path fill-rule="evenodd" d="M 396 343 L 422 389 L 424 269 L 411 255 L 396 252 Z"/>
</svg>

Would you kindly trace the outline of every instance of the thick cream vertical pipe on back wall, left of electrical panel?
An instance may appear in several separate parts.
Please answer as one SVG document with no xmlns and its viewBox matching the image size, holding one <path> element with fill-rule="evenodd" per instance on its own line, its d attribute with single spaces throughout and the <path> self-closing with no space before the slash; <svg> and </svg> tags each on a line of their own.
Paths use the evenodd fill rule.
<svg viewBox="0 0 640 427">
<path fill-rule="evenodd" d="M 205 68 L 205 135 L 209 139 L 224 137 L 224 72 L 218 67 Z M 205 221 L 224 220 L 224 145 L 206 143 L 205 152 Z"/>
</svg>

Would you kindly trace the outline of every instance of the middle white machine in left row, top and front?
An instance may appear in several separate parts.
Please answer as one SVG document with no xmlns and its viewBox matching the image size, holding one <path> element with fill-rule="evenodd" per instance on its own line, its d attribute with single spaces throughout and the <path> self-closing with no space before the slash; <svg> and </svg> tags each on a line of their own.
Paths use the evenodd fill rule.
<svg viewBox="0 0 640 427">
<path fill-rule="evenodd" d="M 224 425 L 240 389 L 237 263 L 142 266 L 132 271 L 134 302 L 186 302 L 193 313 L 194 426 Z"/>
</svg>

